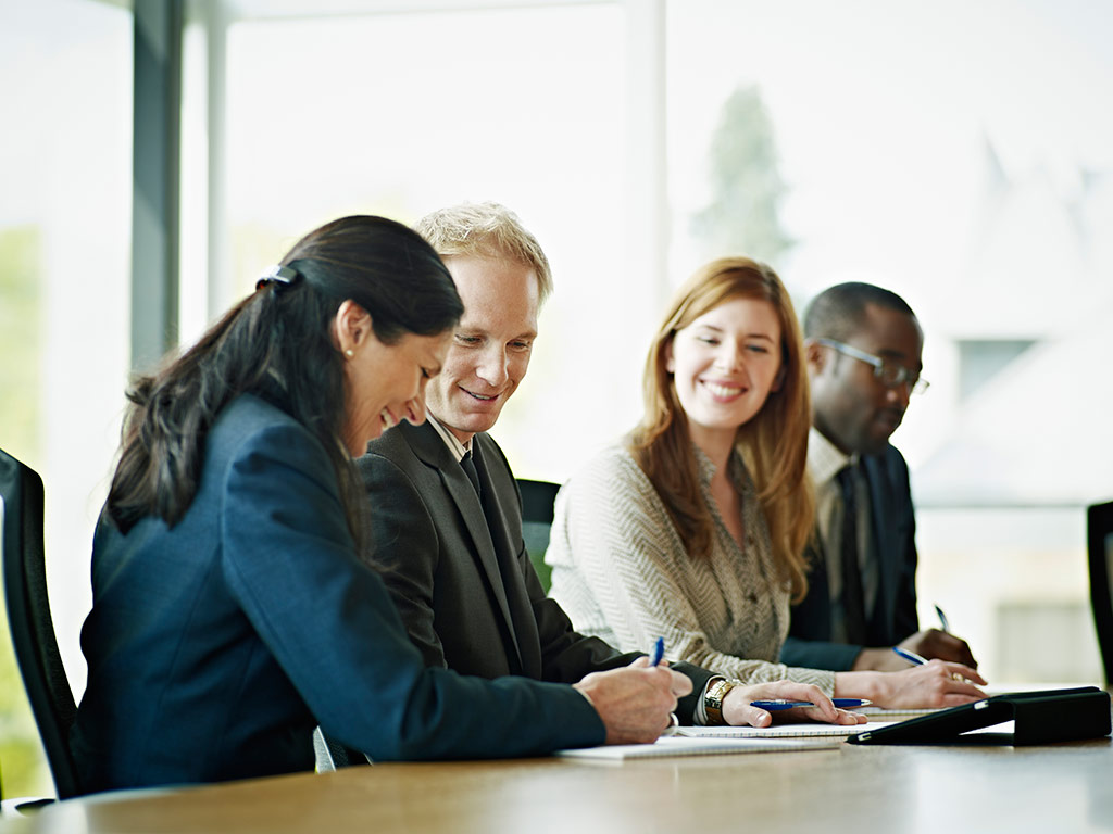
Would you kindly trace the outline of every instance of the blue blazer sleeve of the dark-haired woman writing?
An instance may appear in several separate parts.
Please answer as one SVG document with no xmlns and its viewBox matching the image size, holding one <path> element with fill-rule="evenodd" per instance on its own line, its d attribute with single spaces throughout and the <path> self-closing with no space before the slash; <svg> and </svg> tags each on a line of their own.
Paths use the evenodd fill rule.
<svg viewBox="0 0 1113 834">
<path fill-rule="evenodd" d="M 602 743 L 569 686 L 422 663 L 355 554 L 324 450 L 299 427 L 244 440 L 226 474 L 223 569 L 322 728 L 374 759 L 520 756 Z"/>
</svg>

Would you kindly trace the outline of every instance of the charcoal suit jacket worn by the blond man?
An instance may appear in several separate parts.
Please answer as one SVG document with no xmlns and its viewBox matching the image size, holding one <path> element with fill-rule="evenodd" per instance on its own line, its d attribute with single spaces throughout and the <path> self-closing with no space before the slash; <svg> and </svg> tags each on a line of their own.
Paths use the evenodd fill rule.
<svg viewBox="0 0 1113 834">
<path fill-rule="evenodd" d="M 432 424 L 403 423 L 357 461 L 367 487 L 374 557 L 425 663 L 470 675 L 575 683 L 632 662 L 572 628 L 545 596 L 522 539 L 522 499 L 506 458 L 485 433 L 479 450 L 483 506 Z M 710 673 L 687 664 L 702 692 Z M 690 719 L 696 695 L 679 714 Z"/>
</svg>

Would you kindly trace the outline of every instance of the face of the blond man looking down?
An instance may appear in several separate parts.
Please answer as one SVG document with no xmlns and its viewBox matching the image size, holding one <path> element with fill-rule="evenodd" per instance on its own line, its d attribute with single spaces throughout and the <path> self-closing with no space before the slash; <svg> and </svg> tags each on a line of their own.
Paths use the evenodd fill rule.
<svg viewBox="0 0 1113 834">
<path fill-rule="evenodd" d="M 429 410 L 461 443 L 486 431 L 518 389 L 538 335 L 538 279 L 513 261 L 451 256 L 445 266 L 464 302 Z"/>
</svg>

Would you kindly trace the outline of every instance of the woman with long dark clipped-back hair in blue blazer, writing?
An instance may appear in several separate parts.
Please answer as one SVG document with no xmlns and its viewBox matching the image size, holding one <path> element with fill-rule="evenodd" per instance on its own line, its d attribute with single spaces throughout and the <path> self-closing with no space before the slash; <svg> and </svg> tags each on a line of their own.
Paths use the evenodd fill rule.
<svg viewBox="0 0 1113 834">
<path fill-rule="evenodd" d="M 540 754 L 668 725 L 684 693 L 663 668 L 574 688 L 424 668 L 359 558 L 351 458 L 425 418 L 462 311 L 415 232 L 348 217 L 134 385 L 81 634 L 83 790 L 312 770 L 318 724 L 376 759 Z"/>
</svg>

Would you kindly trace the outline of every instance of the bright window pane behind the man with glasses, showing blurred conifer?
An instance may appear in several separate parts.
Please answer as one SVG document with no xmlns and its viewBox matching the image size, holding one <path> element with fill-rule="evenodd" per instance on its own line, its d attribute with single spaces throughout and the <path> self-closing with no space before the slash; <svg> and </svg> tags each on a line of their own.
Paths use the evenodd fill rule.
<svg viewBox="0 0 1113 834">
<path fill-rule="evenodd" d="M 668 31 L 674 272 L 732 245 L 801 308 L 840 280 L 903 295 L 932 380 L 894 436 L 922 619 L 940 605 L 991 679 L 1097 679 L 1083 508 L 1113 495 L 1113 12 L 684 0 Z"/>
</svg>

